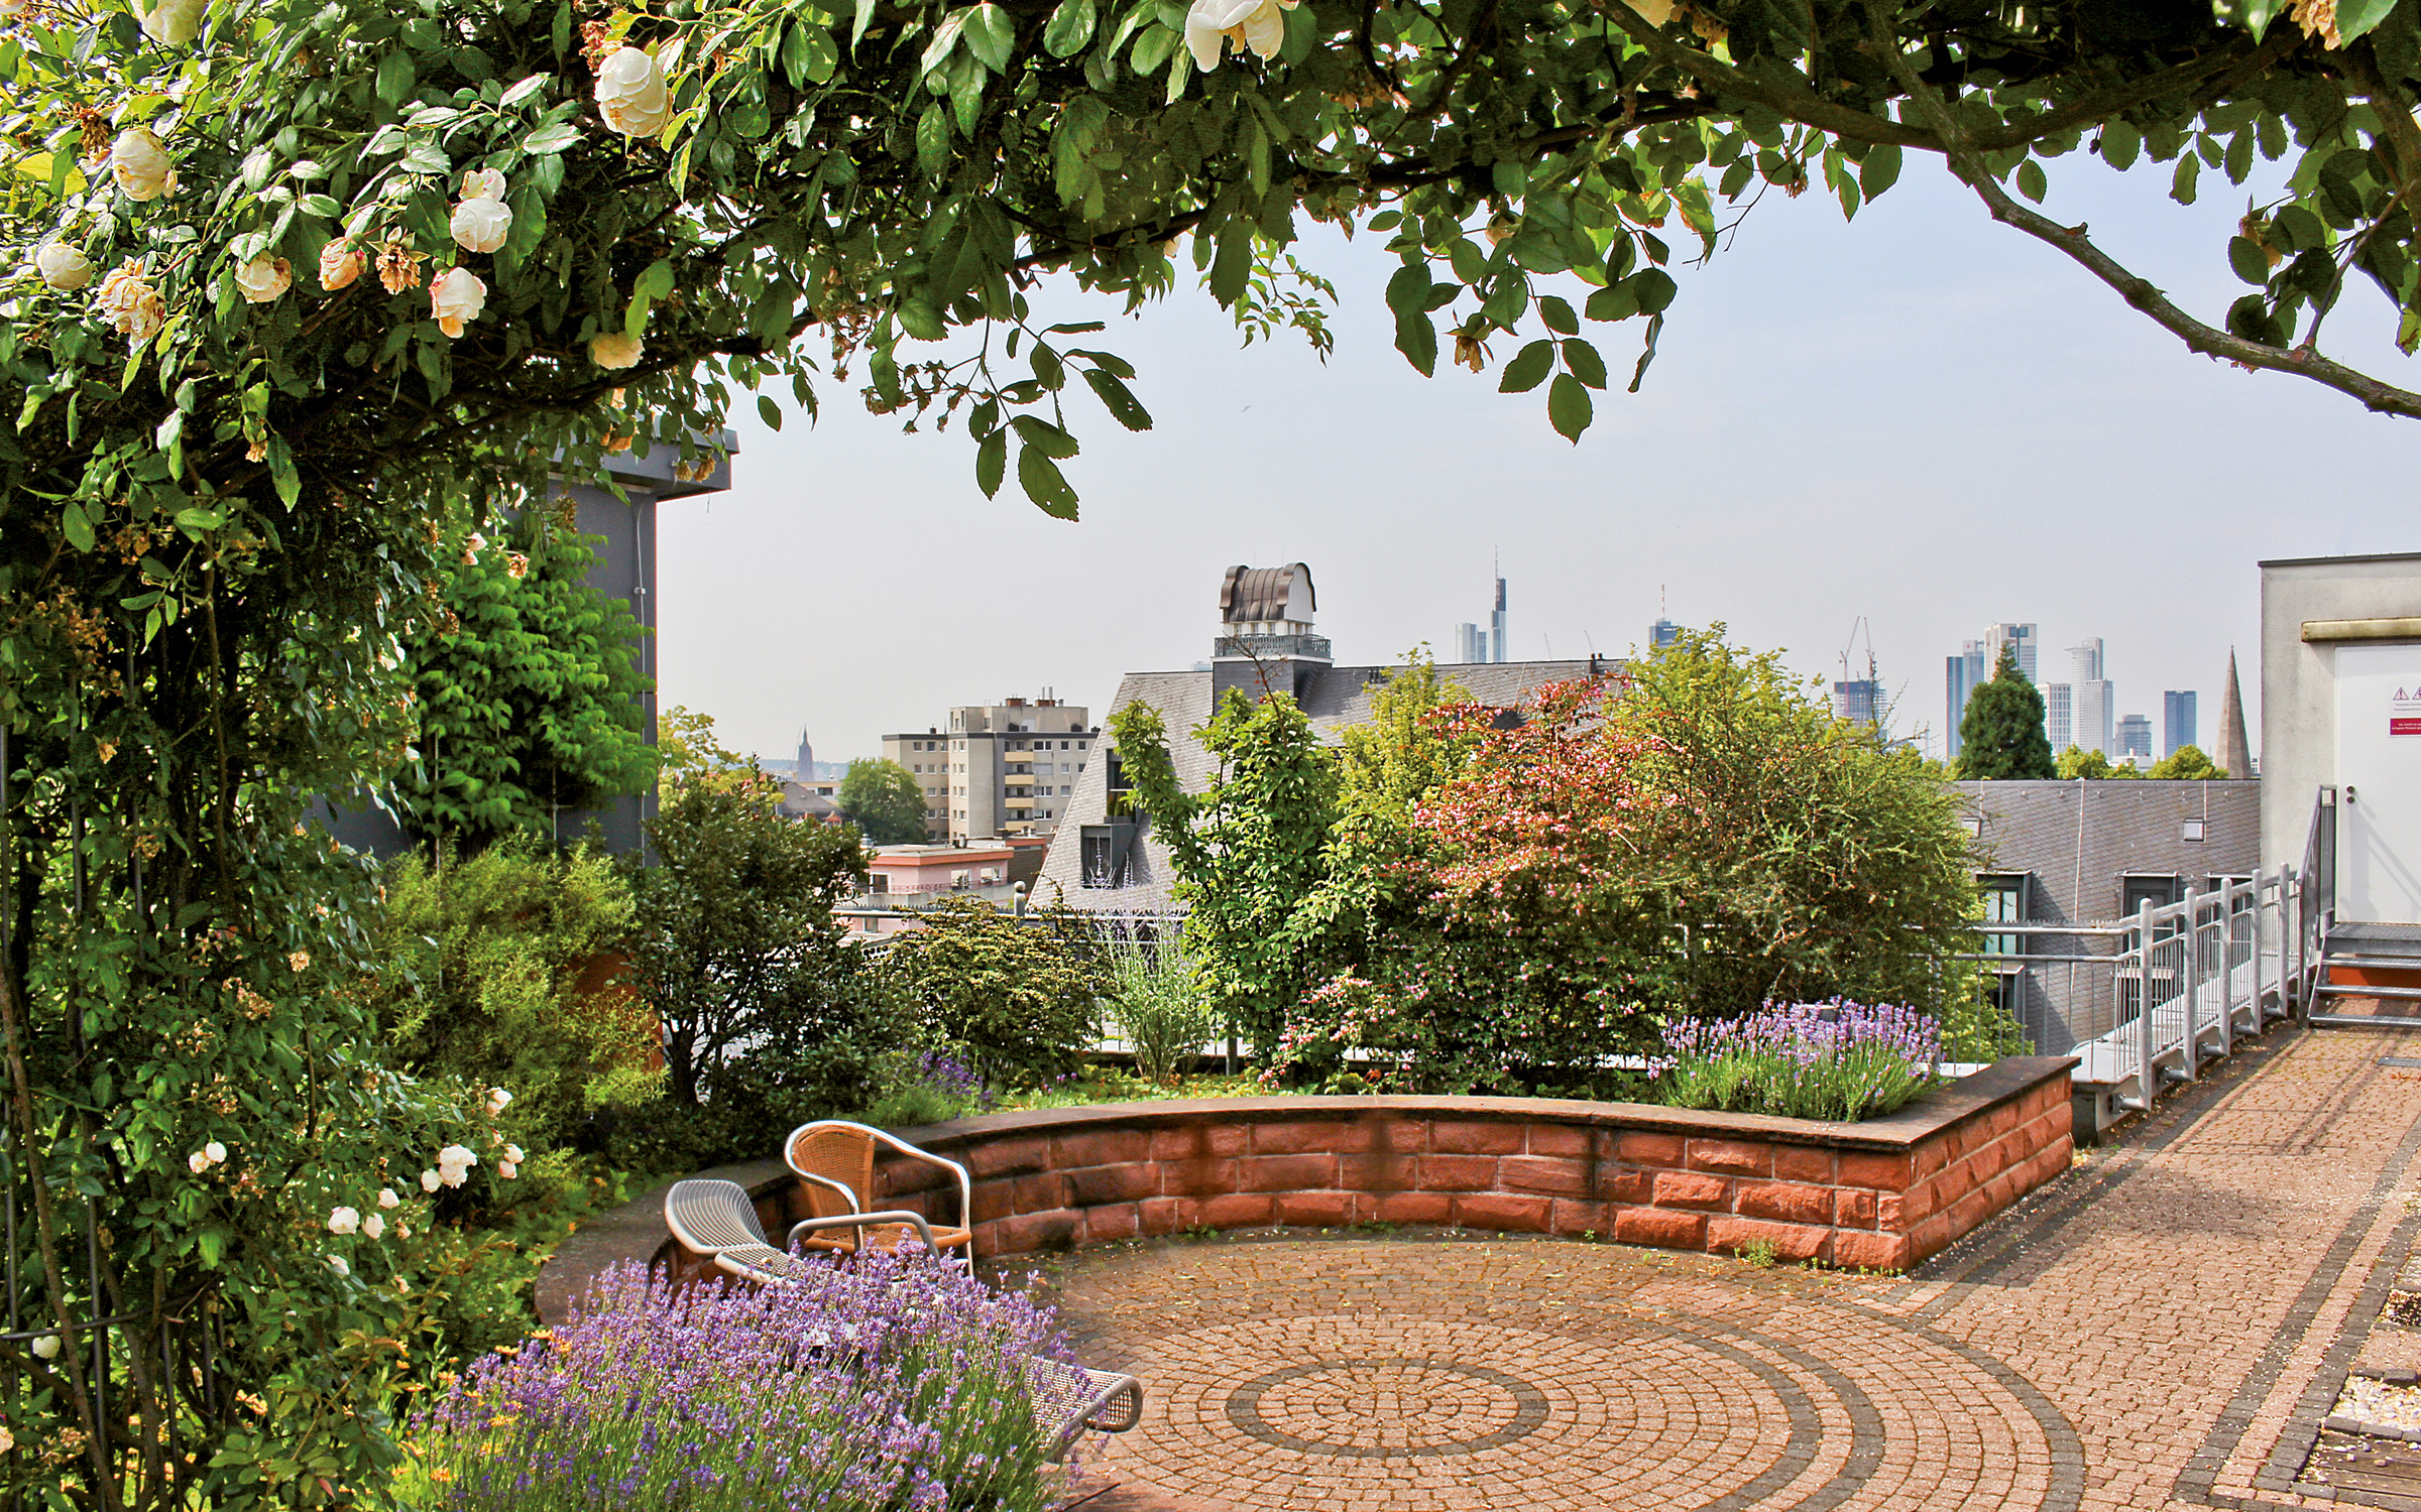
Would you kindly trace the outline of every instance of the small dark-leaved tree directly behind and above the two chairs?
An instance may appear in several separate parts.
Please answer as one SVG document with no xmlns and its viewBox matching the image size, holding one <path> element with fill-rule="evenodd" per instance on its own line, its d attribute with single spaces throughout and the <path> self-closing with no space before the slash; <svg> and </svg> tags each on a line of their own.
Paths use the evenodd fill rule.
<svg viewBox="0 0 2421 1512">
<path fill-rule="evenodd" d="M 857 832 L 780 813 L 770 777 L 680 781 L 646 825 L 659 864 L 632 868 L 632 980 L 663 1023 L 666 1096 L 697 1106 L 709 1072 L 801 1011 L 821 963 L 850 948 L 833 907 L 864 888 Z"/>
</svg>

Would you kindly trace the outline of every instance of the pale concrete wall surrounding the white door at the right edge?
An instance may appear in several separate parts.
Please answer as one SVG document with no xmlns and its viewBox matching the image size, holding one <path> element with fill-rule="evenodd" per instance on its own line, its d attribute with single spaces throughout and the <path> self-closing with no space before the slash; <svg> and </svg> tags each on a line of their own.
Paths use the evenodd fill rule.
<svg viewBox="0 0 2421 1512">
<path fill-rule="evenodd" d="M 2302 866 L 2312 801 L 2336 781 L 2336 646 L 2305 624 L 2421 619 L 2421 552 L 2261 564 L 2261 866 Z M 2394 629 L 2394 627 L 2377 627 Z M 2411 634 L 2370 636 L 2421 641 Z"/>
</svg>

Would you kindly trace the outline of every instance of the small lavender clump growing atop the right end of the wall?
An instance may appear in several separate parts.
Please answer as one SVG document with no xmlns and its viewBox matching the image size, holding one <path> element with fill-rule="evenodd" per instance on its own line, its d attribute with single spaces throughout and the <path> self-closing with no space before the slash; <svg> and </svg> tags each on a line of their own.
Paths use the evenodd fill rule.
<svg viewBox="0 0 2421 1512">
<path fill-rule="evenodd" d="M 1876 1118 L 1942 1081 L 1942 1026 L 1905 1004 L 1765 1004 L 1743 1018 L 1678 1018 L 1649 1064 L 1673 1108 Z"/>
</svg>

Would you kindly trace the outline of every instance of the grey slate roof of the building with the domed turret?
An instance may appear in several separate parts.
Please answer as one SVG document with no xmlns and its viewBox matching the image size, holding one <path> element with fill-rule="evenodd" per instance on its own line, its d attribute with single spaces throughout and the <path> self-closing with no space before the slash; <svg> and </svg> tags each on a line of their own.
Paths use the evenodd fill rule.
<svg viewBox="0 0 2421 1512">
<path fill-rule="evenodd" d="M 1298 699 L 1312 728 L 1334 743 L 1336 731 L 1370 719 L 1370 704 L 1380 685 L 1397 670 L 1402 668 L 1302 668 Z M 1620 673 L 1622 663 L 1603 658 L 1595 663 L 1595 670 Z M 1467 687 L 1477 702 L 1503 709 L 1518 704 L 1525 692 L 1542 682 L 1588 677 L 1591 660 L 1453 663 L 1440 665 L 1438 673 Z M 1169 760 L 1186 791 L 1198 793 L 1208 789 L 1215 762 L 1201 740 L 1194 738 L 1194 731 L 1210 721 L 1210 673 L 1128 673 L 1119 682 L 1119 697 L 1111 699 L 1111 709 L 1126 709 L 1135 702 L 1157 709 L 1162 723 L 1167 723 Z M 1109 760 L 1097 748 L 1094 760 L 1085 762 L 1085 774 L 1077 777 L 1075 798 L 1068 801 L 1058 830 L 1051 832 L 1051 854 L 1043 856 L 1043 873 L 1034 888 L 1034 900 L 1048 905 L 1056 885 L 1070 907 L 1087 912 L 1165 912 L 1174 907 L 1169 888 L 1177 876 L 1169 868 L 1167 847 L 1152 835 L 1150 820 L 1143 820 L 1128 871 L 1135 885 L 1082 885 L 1082 830 L 1085 825 L 1099 825 L 1106 813 Z"/>
</svg>

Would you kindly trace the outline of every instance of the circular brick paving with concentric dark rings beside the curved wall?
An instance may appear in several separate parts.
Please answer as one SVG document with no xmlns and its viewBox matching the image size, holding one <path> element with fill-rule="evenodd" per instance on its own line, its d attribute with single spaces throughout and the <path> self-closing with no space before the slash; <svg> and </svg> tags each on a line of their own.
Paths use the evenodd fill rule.
<svg viewBox="0 0 2421 1512">
<path fill-rule="evenodd" d="M 1879 1282 L 1557 1241 L 1094 1251 L 1051 1285 L 1145 1418 L 1133 1512 L 1591 1505 L 2058 1510 L 2007 1367 Z"/>
</svg>

